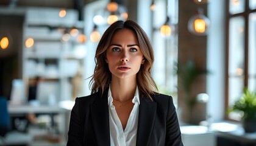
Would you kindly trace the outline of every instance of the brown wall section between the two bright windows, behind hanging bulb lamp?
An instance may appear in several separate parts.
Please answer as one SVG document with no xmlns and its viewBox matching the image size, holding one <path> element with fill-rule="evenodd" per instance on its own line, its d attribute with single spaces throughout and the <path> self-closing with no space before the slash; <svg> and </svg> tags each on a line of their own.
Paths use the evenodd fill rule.
<svg viewBox="0 0 256 146">
<path fill-rule="evenodd" d="M 193 1 L 179 1 L 179 39 L 178 39 L 178 63 L 186 64 L 188 60 L 193 60 L 198 69 L 206 69 L 207 60 L 207 36 L 197 36 L 188 32 L 188 20 L 191 16 L 196 15 L 197 8 L 204 9 L 204 15 L 207 16 L 207 5 L 197 5 Z M 178 79 L 178 105 L 180 111 L 180 118 L 183 122 L 199 123 L 201 120 L 205 120 L 205 105 L 197 104 L 193 108 L 193 121 L 190 121 L 189 111 L 187 103 L 185 101 L 185 92 L 182 88 L 182 80 Z M 201 75 L 191 85 L 191 97 L 196 97 L 199 93 L 206 92 L 206 78 L 205 75 Z"/>
</svg>

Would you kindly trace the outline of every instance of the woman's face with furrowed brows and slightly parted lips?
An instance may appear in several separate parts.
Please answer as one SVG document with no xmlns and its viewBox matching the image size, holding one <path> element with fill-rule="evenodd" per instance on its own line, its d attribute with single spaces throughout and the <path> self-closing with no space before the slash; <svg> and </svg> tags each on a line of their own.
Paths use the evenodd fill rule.
<svg viewBox="0 0 256 146">
<path fill-rule="evenodd" d="M 143 54 L 132 30 L 117 30 L 107 49 L 108 68 L 113 77 L 135 77 L 144 63 Z"/>
</svg>

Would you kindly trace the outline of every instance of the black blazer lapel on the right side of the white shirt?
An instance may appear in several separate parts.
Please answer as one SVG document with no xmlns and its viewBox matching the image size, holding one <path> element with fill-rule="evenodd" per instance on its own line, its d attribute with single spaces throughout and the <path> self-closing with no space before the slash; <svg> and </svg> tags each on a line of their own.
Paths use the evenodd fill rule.
<svg viewBox="0 0 256 146">
<path fill-rule="evenodd" d="M 157 103 L 143 98 L 140 101 L 138 116 L 137 145 L 148 145 L 155 122 Z"/>
</svg>

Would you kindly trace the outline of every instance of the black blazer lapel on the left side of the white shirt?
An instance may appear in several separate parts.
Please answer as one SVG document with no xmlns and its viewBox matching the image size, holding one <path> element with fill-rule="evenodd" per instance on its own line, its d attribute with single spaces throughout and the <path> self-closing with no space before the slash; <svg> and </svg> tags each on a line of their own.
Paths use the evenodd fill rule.
<svg viewBox="0 0 256 146">
<path fill-rule="evenodd" d="M 95 103 L 90 106 L 95 137 L 98 145 L 110 146 L 107 92 L 96 98 Z"/>
</svg>

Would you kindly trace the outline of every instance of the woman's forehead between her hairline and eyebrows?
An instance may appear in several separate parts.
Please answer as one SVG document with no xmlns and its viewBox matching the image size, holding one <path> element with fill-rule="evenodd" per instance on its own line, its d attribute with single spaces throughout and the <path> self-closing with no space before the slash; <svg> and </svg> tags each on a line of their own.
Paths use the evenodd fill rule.
<svg viewBox="0 0 256 146">
<path fill-rule="evenodd" d="M 114 33 L 111 43 L 136 43 L 138 44 L 135 33 L 130 29 L 119 29 Z"/>
</svg>

